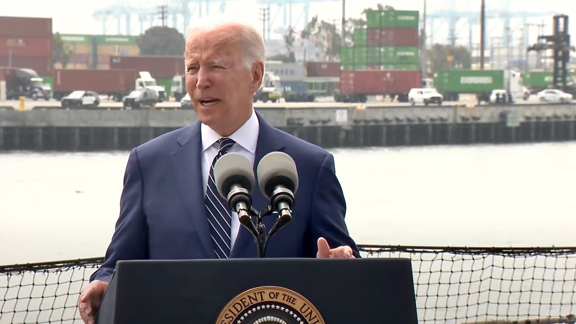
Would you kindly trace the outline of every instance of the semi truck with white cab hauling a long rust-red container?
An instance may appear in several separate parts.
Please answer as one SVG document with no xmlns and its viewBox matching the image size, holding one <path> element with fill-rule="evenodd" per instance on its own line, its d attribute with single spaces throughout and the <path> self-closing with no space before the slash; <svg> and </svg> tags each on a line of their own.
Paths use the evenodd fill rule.
<svg viewBox="0 0 576 324">
<path fill-rule="evenodd" d="M 164 88 L 146 71 L 134 69 L 109 70 L 54 70 L 54 99 L 60 100 L 73 91 L 93 91 L 120 102 L 134 90 L 151 89 L 158 95 L 158 102 L 165 99 Z"/>
</svg>

